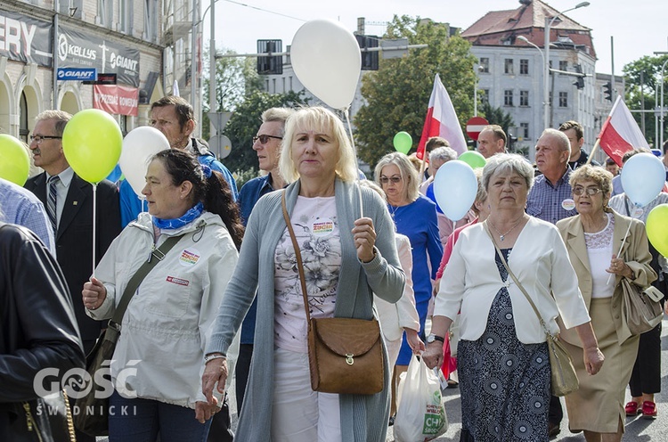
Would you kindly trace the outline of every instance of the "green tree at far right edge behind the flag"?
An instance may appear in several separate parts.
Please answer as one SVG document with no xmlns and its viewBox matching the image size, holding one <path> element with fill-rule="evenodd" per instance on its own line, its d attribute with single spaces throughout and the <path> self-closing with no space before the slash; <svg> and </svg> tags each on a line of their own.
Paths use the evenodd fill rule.
<svg viewBox="0 0 668 442">
<path fill-rule="evenodd" d="M 661 66 L 668 60 L 668 55 L 658 57 L 644 56 L 623 67 L 626 94 L 624 102 L 632 111 L 645 109 L 646 111 L 657 109 L 661 105 Z M 664 71 L 664 77 L 668 77 L 668 70 Z M 664 84 L 664 93 L 668 92 L 668 85 Z M 664 96 L 664 105 L 668 102 L 668 97 Z M 656 135 L 655 115 L 653 112 L 631 112 L 636 119 L 638 126 L 642 129 L 642 119 L 645 119 L 645 138 L 649 143 L 654 142 L 658 145 L 660 136 Z M 665 121 L 665 117 L 664 117 Z M 668 125 L 664 124 L 664 130 Z M 664 132 L 664 140 L 668 132 Z"/>
</svg>

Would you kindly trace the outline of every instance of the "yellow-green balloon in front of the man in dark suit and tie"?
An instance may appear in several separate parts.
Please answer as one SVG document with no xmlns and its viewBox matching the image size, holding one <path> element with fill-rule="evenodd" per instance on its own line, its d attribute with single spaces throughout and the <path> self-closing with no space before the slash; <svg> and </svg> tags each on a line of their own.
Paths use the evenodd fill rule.
<svg viewBox="0 0 668 442">
<path fill-rule="evenodd" d="M 123 134 L 105 111 L 77 112 L 62 133 L 62 151 L 69 166 L 88 183 L 99 183 L 118 164 Z"/>
</svg>

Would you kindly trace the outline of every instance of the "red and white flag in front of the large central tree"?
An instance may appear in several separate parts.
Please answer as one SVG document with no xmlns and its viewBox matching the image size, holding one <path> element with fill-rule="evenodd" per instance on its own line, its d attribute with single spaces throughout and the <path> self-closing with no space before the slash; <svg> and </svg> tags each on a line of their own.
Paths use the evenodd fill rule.
<svg viewBox="0 0 668 442">
<path fill-rule="evenodd" d="M 422 160 L 425 151 L 425 143 L 432 136 L 440 136 L 450 143 L 450 147 L 458 154 L 468 151 L 464 134 L 461 132 L 460 120 L 452 107 L 450 95 L 445 90 L 441 78 L 436 74 L 434 78 L 434 89 L 429 98 L 429 109 L 425 126 L 422 128 L 420 144 L 418 144 L 418 158 Z"/>
</svg>

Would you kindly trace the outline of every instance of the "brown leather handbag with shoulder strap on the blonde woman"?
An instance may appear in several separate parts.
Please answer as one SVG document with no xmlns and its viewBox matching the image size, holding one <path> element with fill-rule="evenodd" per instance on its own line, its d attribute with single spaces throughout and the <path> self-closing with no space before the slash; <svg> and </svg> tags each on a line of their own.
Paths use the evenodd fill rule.
<svg viewBox="0 0 668 442">
<path fill-rule="evenodd" d="M 312 318 L 308 311 L 301 252 L 288 216 L 285 191 L 281 198 L 283 217 L 295 248 L 299 280 L 308 323 L 308 364 L 311 388 L 322 393 L 373 395 L 383 389 L 384 357 L 380 327 L 354 318 Z"/>
</svg>

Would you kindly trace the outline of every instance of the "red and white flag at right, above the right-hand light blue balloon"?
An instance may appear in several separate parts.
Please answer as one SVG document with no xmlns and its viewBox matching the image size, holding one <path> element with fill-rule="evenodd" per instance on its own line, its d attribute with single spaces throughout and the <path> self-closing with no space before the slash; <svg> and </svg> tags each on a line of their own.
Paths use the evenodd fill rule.
<svg viewBox="0 0 668 442">
<path fill-rule="evenodd" d="M 600 129 L 599 143 L 607 156 L 615 160 L 620 167 L 623 154 L 627 151 L 637 147 L 649 149 L 647 140 L 642 135 L 638 123 L 633 119 L 621 95 L 617 95 L 613 109 Z"/>
</svg>

